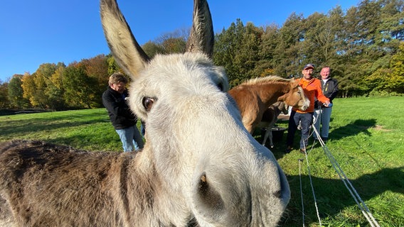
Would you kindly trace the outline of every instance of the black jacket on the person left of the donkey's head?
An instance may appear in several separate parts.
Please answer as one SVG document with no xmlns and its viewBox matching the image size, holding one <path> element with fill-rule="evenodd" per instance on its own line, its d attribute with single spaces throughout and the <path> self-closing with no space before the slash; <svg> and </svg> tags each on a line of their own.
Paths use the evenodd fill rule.
<svg viewBox="0 0 404 227">
<path fill-rule="evenodd" d="M 115 129 L 128 128 L 134 126 L 137 122 L 137 116 L 132 113 L 127 105 L 127 101 L 124 100 L 124 97 L 127 96 L 127 90 L 124 91 L 122 96 L 122 94 L 119 94 L 119 92 L 111 87 L 108 87 L 102 94 L 102 104 L 107 109 L 112 126 Z"/>
</svg>

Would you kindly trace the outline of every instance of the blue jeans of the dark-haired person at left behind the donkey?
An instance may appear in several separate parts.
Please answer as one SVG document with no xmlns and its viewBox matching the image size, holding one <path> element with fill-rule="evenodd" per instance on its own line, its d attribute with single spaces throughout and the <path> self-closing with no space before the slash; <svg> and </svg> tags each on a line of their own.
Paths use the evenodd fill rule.
<svg viewBox="0 0 404 227">
<path fill-rule="evenodd" d="M 115 129 L 122 142 L 124 152 L 142 149 L 144 146 L 142 135 L 137 130 L 136 125 L 123 129 Z"/>
</svg>

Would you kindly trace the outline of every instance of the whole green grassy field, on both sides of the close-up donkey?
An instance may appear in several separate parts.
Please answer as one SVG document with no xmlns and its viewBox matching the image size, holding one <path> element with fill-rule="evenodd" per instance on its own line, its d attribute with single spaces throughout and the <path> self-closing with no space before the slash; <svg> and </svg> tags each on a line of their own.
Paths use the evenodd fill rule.
<svg viewBox="0 0 404 227">
<path fill-rule="evenodd" d="M 404 226 L 403 113 L 403 97 L 334 101 L 326 147 L 380 226 Z M 287 127 L 286 122 L 277 125 Z M 0 141 L 15 138 L 46 140 L 86 150 L 122 150 L 105 109 L 0 116 Z M 280 226 L 303 226 L 303 209 L 304 225 L 320 226 L 310 177 L 322 226 L 370 226 L 321 146 L 310 143 L 306 160 L 297 150 L 283 153 L 285 139 L 283 135 L 272 148 L 292 190 Z M 299 133 L 296 148 L 298 140 Z"/>
</svg>

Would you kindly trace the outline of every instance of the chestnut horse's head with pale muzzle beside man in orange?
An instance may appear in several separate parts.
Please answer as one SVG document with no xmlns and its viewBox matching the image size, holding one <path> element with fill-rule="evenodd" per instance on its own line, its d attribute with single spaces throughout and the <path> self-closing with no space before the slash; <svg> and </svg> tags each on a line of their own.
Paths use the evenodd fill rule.
<svg viewBox="0 0 404 227">
<path fill-rule="evenodd" d="M 278 99 L 279 100 L 279 99 Z M 310 106 L 310 100 L 304 94 L 302 87 L 299 85 L 299 80 L 290 79 L 289 92 L 285 96 L 284 101 L 289 105 L 305 111 Z"/>
</svg>

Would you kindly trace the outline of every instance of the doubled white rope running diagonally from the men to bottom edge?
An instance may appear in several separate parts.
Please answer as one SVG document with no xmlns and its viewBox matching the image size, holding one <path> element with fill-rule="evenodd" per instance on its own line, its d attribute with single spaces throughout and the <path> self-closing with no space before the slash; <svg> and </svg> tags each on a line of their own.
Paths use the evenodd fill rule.
<svg viewBox="0 0 404 227">
<path fill-rule="evenodd" d="M 339 178 L 344 182 L 346 189 L 348 189 L 349 193 L 355 200 L 356 204 L 358 204 L 359 209 L 361 209 L 363 216 L 365 216 L 366 220 L 371 224 L 372 227 L 380 227 L 378 225 L 378 222 L 376 221 L 375 218 L 373 218 L 373 215 L 371 214 L 371 211 L 369 211 L 368 206 L 366 206 L 365 202 L 361 199 L 361 196 L 359 196 L 358 192 L 356 192 L 356 189 L 353 187 L 351 182 L 349 181 L 348 177 L 346 177 L 344 171 L 341 169 L 339 166 L 338 162 L 335 160 L 335 157 L 331 154 L 329 149 L 326 147 L 324 141 L 321 139 L 319 132 L 317 131 L 316 127 L 314 127 L 314 124 L 312 125 L 314 133 L 317 135 L 317 139 L 319 140 L 319 143 L 321 144 L 321 148 L 323 148 L 324 153 L 326 156 L 329 158 L 332 166 L 334 167 L 334 170 L 338 173 Z"/>
</svg>

